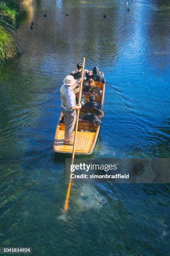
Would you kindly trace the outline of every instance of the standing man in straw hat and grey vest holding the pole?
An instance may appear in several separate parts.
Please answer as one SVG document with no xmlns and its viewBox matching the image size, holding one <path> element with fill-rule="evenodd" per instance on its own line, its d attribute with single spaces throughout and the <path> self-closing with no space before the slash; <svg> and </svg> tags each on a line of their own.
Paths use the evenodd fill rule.
<svg viewBox="0 0 170 256">
<path fill-rule="evenodd" d="M 63 80 L 62 87 L 60 88 L 61 94 L 61 110 L 64 115 L 65 134 L 64 145 L 73 146 L 72 132 L 74 130 L 76 121 L 76 110 L 80 109 L 82 105 L 76 105 L 74 89 L 78 85 L 78 81 L 73 76 L 68 75 Z"/>
</svg>

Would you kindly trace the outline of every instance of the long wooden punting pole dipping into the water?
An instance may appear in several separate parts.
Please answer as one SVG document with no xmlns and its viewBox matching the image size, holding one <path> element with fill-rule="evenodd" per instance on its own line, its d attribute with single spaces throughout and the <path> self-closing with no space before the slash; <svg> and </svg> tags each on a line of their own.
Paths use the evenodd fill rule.
<svg viewBox="0 0 170 256">
<path fill-rule="evenodd" d="M 85 57 L 83 57 L 83 60 L 82 60 L 82 74 L 81 74 L 82 79 L 83 79 L 83 75 L 84 75 L 84 67 L 85 67 Z M 79 97 L 78 97 L 78 104 L 79 105 L 80 105 L 80 102 L 81 102 L 81 95 L 82 95 L 82 82 L 83 82 L 82 79 L 81 79 L 81 82 L 80 82 L 80 92 L 79 92 Z M 75 136 L 74 136 L 74 145 L 73 145 L 73 150 L 72 150 L 71 164 L 74 164 L 79 114 L 80 114 L 80 109 L 77 110 L 77 119 L 76 119 L 76 124 L 75 124 Z M 71 172 L 70 172 L 70 174 L 71 174 Z M 66 213 L 67 210 L 68 210 L 71 182 L 72 182 L 72 178 L 71 178 L 71 175 L 70 175 L 69 184 L 68 184 L 68 188 L 67 188 L 67 195 L 66 195 L 66 198 L 65 198 L 65 204 L 64 204 L 64 209 L 63 209 L 64 213 Z"/>
</svg>

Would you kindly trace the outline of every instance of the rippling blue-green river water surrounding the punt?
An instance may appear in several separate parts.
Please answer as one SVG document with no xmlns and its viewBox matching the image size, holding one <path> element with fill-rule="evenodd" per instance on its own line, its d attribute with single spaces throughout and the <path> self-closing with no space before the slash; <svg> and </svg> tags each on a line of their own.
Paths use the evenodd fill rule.
<svg viewBox="0 0 170 256">
<path fill-rule="evenodd" d="M 63 216 L 65 161 L 52 146 L 62 80 L 85 56 L 107 81 L 94 157 L 170 157 L 170 1 L 34 0 L 16 33 L 23 54 L 0 67 L 0 246 L 167 255 L 168 184 L 76 185 Z"/>
</svg>

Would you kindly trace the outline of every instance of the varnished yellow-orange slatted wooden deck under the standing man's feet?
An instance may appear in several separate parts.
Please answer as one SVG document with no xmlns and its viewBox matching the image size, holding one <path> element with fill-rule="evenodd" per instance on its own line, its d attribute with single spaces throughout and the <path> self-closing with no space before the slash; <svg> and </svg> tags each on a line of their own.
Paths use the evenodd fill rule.
<svg viewBox="0 0 170 256">
<path fill-rule="evenodd" d="M 54 150 L 57 152 L 65 152 L 65 153 L 72 153 L 73 146 L 63 145 L 64 140 L 64 130 L 59 130 L 55 136 L 54 141 Z M 73 132 L 73 138 L 74 138 Z M 76 141 L 76 148 L 75 153 L 82 153 L 82 154 L 89 154 L 90 149 L 92 147 L 93 141 L 95 139 L 95 133 L 85 133 L 85 132 L 77 132 L 77 141 Z"/>
</svg>

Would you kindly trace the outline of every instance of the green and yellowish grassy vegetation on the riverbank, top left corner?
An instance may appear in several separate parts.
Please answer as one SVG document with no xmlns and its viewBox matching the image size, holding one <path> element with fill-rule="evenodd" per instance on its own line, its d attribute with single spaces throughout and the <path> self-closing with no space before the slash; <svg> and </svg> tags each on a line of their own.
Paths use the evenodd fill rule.
<svg viewBox="0 0 170 256">
<path fill-rule="evenodd" d="M 17 56 L 18 47 L 13 39 L 12 28 L 21 7 L 31 2 L 32 0 L 0 0 L 0 61 Z"/>
</svg>

